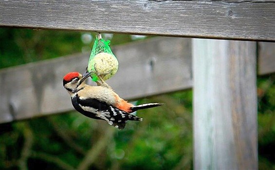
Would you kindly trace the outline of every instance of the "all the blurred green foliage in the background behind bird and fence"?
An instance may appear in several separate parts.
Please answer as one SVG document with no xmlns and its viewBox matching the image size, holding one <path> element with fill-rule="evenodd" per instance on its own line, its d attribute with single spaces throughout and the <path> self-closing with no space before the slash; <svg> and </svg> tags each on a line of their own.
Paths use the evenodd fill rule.
<svg viewBox="0 0 275 170">
<path fill-rule="evenodd" d="M 0 68 L 80 53 L 87 46 L 83 34 L 0 28 Z M 111 45 L 129 41 L 128 35 L 114 35 Z M 275 169 L 274 80 L 257 80 L 260 170 Z M 0 169 L 193 169 L 192 91 L 138 102 L 156 101 L 165 107 L 138 112 L 144 121 L 128 122 L 121 131 L 76 112 L 0 124 Z"/>
</svg>

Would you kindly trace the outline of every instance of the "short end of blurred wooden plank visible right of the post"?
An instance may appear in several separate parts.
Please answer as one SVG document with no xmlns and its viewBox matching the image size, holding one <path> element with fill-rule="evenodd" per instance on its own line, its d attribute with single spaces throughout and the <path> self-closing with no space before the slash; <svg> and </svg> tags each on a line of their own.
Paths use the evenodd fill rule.
<svg viewBox="0 0 275 170">
<path fill-rule="evenodd" d="M 258 42 L 258 74 L 275 72 L 275 43 Z"/>
</svg>

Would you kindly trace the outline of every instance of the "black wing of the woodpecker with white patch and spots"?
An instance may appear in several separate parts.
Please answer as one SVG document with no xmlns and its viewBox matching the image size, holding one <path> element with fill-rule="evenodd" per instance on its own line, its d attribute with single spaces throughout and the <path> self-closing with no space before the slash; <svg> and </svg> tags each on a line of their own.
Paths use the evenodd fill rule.
<svg viewBox="0 0 275 170">
<path fill-rule="evenodd" d="M 85 116 L 93 119 L 105 120 L 111 126 L 114 126 L 118 129 L 124 129 L 128 120 L 143 120 L 140 117 L 124 112 L 94 98 L 80 99 L 78 94 L 73 96 L 72 104 L 74 109 L 79 113 L 82 113 Z M 137 108 L 137 110 L 138 109 L 140 108 Z"/>
</svg>

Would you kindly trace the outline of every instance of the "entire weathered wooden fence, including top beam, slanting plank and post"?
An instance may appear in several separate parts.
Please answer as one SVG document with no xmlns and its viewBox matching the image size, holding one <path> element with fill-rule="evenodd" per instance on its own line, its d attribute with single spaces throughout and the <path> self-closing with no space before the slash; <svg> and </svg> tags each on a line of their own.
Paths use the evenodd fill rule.
<svg viewBox="0 0 275 170">
<path fill-rule="evenodd" d="M 256 61 L 259 74 L 274 72 L 275 48 L 237 40 L 275 41 L 274 0 L 4 0 L 0 26 L 232 39 L 115 47 L 121 65 L 110 84 L 128 99 L 193 87 L 194 168 L 257 169 Z M 60 80 L 83 72 L 87 56 L 2 70 L 0 122 L 72 109 Z"/>
</svg>

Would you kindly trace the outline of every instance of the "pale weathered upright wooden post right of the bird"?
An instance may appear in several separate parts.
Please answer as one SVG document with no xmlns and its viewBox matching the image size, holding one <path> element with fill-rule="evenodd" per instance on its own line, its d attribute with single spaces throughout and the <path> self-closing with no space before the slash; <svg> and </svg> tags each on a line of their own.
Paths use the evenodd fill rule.
<svg viewBox="0 0 275 170">
<path fill-rule="evenodd" d="M 195 169 L 256 170 L 256 42 L 192 46 Z"/>
</svg>

